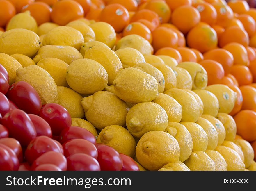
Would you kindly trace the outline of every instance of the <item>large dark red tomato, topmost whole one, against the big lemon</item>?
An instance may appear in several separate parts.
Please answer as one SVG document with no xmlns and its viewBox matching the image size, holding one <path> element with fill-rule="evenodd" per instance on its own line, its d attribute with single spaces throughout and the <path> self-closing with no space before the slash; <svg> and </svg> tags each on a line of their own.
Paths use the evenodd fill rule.
<svg viewBox="0 0 256 191">
<path fill-rule="evenodd" d="M 19 109 L 26 113 L 38 115 L 42 108 L 39 94 L 27 82 L 19 81 L 12 84 L 6 96 L 15 103 Z"/>
</svg>

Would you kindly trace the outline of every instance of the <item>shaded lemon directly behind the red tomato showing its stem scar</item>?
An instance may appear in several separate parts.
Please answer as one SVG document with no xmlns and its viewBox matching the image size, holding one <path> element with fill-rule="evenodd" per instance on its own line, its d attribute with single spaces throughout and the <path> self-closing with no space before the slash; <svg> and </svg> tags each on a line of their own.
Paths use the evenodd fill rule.
<svg viewBox="0 0 256 191">
<path fill-rule="evenodd" d="M 67 109 L 71 118 L 83 118 L 82 96 L 74 90 L 58 86 L 58 104 Z"/>
</svg>

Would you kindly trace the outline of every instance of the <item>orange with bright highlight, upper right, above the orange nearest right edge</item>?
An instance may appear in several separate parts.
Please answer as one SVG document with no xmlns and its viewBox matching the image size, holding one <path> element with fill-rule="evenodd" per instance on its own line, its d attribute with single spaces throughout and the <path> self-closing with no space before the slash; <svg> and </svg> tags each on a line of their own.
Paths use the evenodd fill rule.
<svg viewBox="0 0 256 191">
<path fill-rule="evenodd" d="M 248 54 L 243 45 L 233 42 L 225 45 L 223 49 L 234 56 L 234 65 L 248 65 Z"/>
</svg>

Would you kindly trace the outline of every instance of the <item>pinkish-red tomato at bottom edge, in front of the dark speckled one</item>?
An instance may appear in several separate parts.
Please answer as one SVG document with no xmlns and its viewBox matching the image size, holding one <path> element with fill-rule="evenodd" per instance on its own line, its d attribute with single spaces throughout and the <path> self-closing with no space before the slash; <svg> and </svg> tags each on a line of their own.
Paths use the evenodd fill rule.
<svg viewBox="0 0 256 191">
<path fill-rule="evenodd" d="M 59 167 L 61 170 L 67 170 L 67 159 L 61 153 L 49 151 L 38 157 L 32 164 L 31 169 L 34 170 L 36 167 L 42 164 L 53 164 Z"/>
</svg>

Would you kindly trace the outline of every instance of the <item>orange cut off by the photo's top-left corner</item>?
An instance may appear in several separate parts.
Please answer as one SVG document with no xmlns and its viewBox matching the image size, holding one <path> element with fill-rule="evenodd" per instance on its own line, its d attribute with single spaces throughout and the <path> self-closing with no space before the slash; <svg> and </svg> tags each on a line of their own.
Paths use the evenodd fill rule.
<svg viewBox="0 0 256 191">
<path fill-rule="evenodd" d="M 15 15 L 15 7 L 6 0 L 0 1 L 0 27 L 5 27 L 9 20 Z"/>
</svg>

